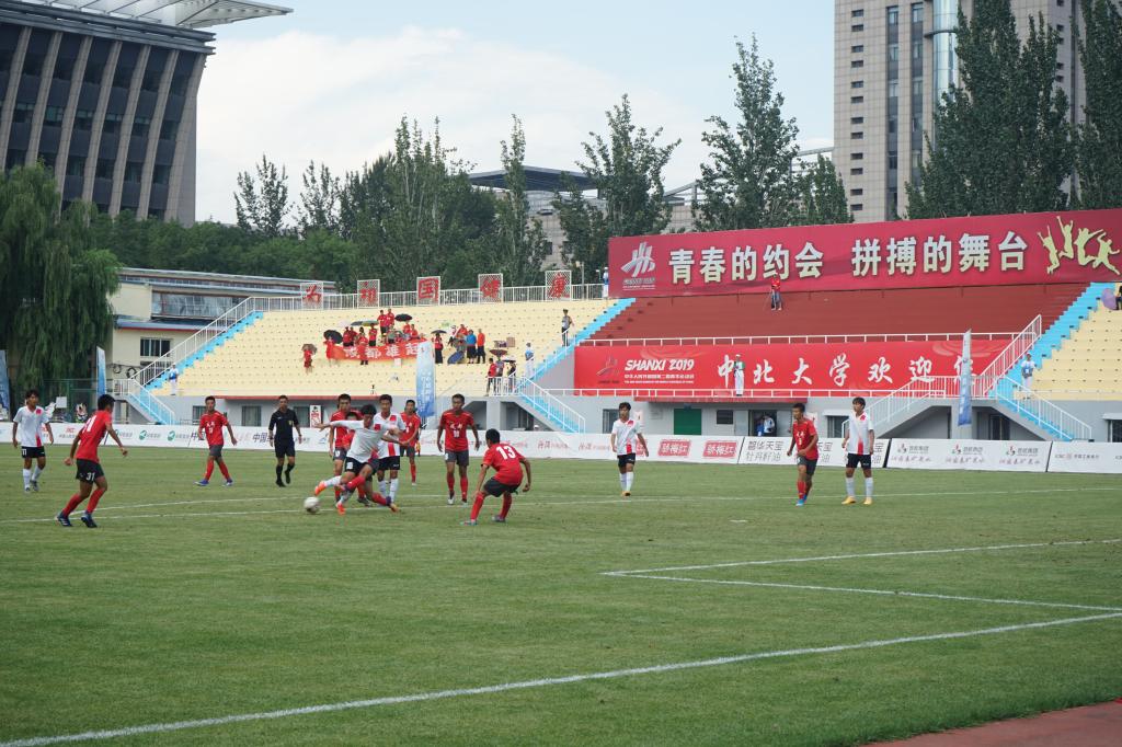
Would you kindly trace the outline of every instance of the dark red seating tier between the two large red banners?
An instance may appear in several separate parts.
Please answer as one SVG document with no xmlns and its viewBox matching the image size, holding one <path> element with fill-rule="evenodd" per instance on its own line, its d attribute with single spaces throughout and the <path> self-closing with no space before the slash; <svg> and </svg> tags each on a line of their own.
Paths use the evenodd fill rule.
<svg viewBox="0 0 1122 747">
<path fill-rule="evenodd" d="M 1018 332 L 1051 324 L 1086 284 L 784 293 L 637 299 L 594 339 Z"/>
</svg>

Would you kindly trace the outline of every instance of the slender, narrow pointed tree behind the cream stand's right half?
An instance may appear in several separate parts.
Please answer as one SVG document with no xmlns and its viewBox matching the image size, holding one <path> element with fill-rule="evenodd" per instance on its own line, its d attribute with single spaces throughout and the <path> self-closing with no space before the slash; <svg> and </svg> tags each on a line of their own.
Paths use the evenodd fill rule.
<svg viewBox="0 0 1122 747">
<path fill-rule="evenodd" d="M 513 117 L 511 141 L 502 141 L 506 190 L 496 196 L 495 267 L 508 285 L 542 282 L 542 264 L 550 253 L 542 222 L 530 213 L 526 199 L 526 135 L 522 121 Z"/>
</svg>

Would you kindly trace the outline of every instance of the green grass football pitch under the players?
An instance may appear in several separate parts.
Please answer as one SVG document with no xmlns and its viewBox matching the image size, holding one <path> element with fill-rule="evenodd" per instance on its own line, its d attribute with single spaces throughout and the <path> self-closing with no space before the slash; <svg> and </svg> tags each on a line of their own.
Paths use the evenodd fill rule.
<svg viewBox="0 0 1122 747">
<path fill-rule="evenodd" d="M 63 446 L 39 494 L 0 458 L 0 744 L 422 695 L 92 744 L 847 745 L 1122 695 L 1116 477 L 880 470 L 843 507 L 824 469 L 795 508 L 793 469 L 641 462 L 623 502 L 614 462 L 539 460 L 463 527 L 432 457 L 401 514 L 340 517 L 301 510 L 325 455 L 203 489 L 201 450 L 102 454 L 96 531 L 38 520 Z M 1040 546 L 891 554 L 999 545 Z"/>
</svg>

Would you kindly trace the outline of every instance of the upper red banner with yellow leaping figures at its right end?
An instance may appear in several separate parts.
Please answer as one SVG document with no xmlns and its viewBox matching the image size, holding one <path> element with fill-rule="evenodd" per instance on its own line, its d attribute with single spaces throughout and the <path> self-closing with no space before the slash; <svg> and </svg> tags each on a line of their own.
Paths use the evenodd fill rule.
<svg viewBox="0 0 1122 747">
<path fill-rule="evenodd" d="M 623 237 L 608 264 L 616 297 L 1120 280 L 1122 210 Z"/>
</svg>

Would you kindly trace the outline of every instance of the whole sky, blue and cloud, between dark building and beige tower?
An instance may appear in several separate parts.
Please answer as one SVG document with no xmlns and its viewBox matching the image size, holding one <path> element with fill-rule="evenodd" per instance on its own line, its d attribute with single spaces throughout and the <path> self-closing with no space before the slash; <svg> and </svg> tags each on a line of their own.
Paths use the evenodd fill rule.
<svg viewBox="0 0 1122 747">
<path fill-rule="evenodd" d="M 389 149 L 403 116 L 426 129 L 439 117 L 445 144 L 488 170 L 516 113 L 527 164 L 571 167 L 623 93 L 638 123 L 681 138 L 665 181 L 686 184 L 705 157 L 705 119 L 732 116 L 734 43 L 753 34 L 800 142 L 833 139 L 830 0 L 274 1 L 295 12 L 212 29 L 200 219 L 233 220 L 234 177 L 261 154 L 287 167 L 295 195 L 309 160 L 357 168 Z"/>
</svg>

